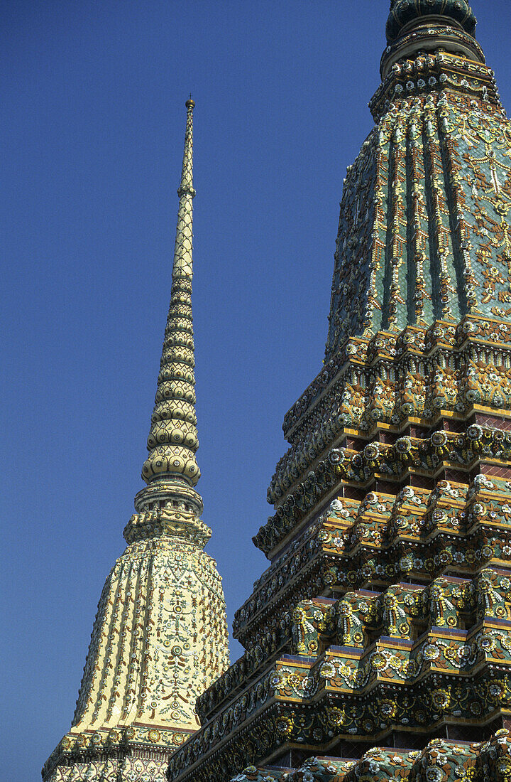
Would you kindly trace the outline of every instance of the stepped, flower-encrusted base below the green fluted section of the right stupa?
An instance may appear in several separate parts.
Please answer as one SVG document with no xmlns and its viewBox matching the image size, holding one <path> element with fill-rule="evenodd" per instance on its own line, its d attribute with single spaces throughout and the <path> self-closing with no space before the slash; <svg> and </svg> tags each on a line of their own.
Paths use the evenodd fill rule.
<svg viewBox="0 0 511 782">
<path fill-rule="evenodd" d="M 440 782 L 501 755 L 507 768 L 504 326 L 470 317 L 357 338 L 339 375 L 318 382 L 318 418 L 337 406 L 331 440 L 321 434 L 306 477 L 281 490 L 285 501 L 255 538 L 272 564 L 236 614 L 247 651 L 199 698 L 203 727 L 172 756 L 170 780 L 360 782 L 399 768 L 396 778 Z M 478 361 L 482 351 L 491 362 Z M 342 401 L 349 382 L 360 395 L 352 407 Z M 273 492 L 289 479 L 286 457 L 279 470 Z M 328 758 L 307 760 L 318 755 Z M 240 773 L 254 759 L 260 777 Z"/>
</svg>

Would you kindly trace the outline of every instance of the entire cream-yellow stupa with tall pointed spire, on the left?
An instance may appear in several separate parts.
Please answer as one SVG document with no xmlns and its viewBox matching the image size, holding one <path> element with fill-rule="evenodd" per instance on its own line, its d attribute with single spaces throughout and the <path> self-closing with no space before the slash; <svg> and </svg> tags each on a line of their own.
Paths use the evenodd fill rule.
<svg viewBox="0 0 511 782">
<path fill-rule="evenodd" d="M 183 174 L 169 317 L 136 513 L 106 580 L 73 726 L 44 782 L 162 782 L 169 755 L 199 726 L 197 697 L 226 668 L 222 583 L 204 552 L 193 375 L 193 106 L 186 102 Z"/>
</svg>

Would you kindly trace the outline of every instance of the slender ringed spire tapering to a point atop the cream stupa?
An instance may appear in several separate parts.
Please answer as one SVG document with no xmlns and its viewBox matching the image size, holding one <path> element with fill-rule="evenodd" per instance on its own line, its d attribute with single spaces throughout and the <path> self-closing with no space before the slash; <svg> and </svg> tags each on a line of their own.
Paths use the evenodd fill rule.
<svg viewBox="0 0 511 782">
<path fill-rule="evenodd" d="M 149 456 L 142 478 L 148 484 L 165 479 L 166 486 L 192 487 L 200 470 L 195 414 L 192 323 L 193 222 L 193 100 L 186 101 L 183 172 L 178 188 L 179 210 L 172 267 L 169 316 L 161 353 L 156 400 L 147 438 Z M 144 491 L 144 490 L 143 490 Z M 190 493 L 189 491 L 186 493 Z M 194 495 L 197 493 L 193 492 Z M 198 495 L 197 495 L 198 497 Z M 200 498 L 199 498 L 200 500 Z"/>
</svg>

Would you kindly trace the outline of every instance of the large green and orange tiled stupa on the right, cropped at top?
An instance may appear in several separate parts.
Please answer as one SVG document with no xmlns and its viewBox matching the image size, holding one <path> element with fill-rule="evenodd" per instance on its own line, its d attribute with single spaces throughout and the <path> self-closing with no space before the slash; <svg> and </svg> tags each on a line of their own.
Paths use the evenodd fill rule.
<svg viewBox="0 0 511 782">
<path fill-rule="evenodd" d="M 169 782 L 511 780 L 511 123 L 475 27 L 392 0 L 246 651 Z"/>
</svg>

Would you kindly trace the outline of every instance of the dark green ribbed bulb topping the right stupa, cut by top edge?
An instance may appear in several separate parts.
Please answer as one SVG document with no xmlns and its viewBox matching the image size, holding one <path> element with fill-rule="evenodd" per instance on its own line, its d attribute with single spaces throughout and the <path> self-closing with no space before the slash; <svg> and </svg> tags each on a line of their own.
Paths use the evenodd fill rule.
<svg viewBox="0 0 511 782">
<path fill-rule="evenodd" d="M 467 0 L 392 0 L 386 34 L 392 43 L 401 34 L 403 27 L 421 16 L 445 16 L 457 22 L 469 35 L 474 35 L 476 17 Z"/>
</svg>

